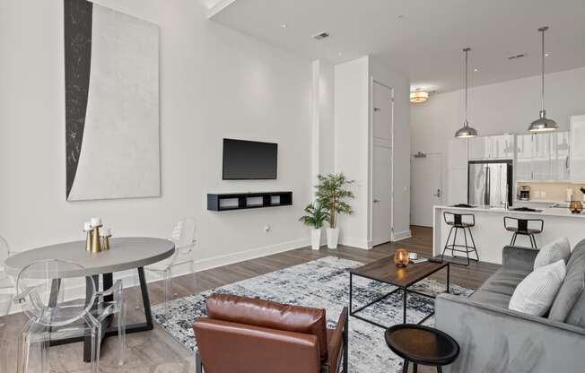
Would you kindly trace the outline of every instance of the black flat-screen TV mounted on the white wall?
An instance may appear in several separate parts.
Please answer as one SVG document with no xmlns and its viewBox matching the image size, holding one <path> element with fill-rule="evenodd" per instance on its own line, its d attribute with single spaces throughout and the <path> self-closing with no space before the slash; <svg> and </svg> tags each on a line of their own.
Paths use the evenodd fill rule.
<svg viewBox="0 0 585 373">
<path fill-rule="evenodd" d="M 223 139 L 223 179 L 275 179 L 277 143 Z"/>
</svg>

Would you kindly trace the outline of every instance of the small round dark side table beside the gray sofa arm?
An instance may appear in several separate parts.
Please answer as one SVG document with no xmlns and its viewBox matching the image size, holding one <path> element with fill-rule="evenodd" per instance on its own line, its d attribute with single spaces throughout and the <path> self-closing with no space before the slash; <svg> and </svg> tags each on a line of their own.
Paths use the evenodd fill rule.
<svg viewBox="0 0 585 373">
<path fill-rule="evenodd" d="M 441 367 L 455 361 L 459 354 L 459 345 L 453 338 L 429 326 L 394 325 L 384 337 L 390 350 L 405 360 L 403 373 L 408 371 L 410 362 L 415 373 L 419 364 L 437 367 L 437 372 L 442 373 Z"/>
</svg>

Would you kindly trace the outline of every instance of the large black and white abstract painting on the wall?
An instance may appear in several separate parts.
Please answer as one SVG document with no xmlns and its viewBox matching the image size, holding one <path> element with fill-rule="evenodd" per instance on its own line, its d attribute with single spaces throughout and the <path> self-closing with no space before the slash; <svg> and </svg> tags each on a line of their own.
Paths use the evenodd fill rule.
<svg viewBox="0 0 585 373">
<path fill-rule="evenodd" d="M 161 195 L 159 28 L 64 0 L 67 201 Z"/>
</svg>

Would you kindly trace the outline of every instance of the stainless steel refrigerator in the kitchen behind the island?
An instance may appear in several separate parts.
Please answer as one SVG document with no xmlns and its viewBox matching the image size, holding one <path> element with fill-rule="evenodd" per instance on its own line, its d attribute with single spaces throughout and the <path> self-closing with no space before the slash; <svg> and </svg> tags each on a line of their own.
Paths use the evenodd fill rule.
<svg viewBox="0 0 585 373">
<path fill-rule="evenodd" d="M 470 160 L 467 178 L 467 204 L 511 206 L 511 160 Z"/>
</svg>

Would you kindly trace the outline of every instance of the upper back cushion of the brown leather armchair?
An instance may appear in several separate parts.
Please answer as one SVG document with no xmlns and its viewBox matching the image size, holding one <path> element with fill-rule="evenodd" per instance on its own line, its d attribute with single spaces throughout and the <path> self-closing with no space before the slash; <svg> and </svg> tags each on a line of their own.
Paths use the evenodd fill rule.
<svg viewBox="0 0 585 373">
<path fill-rule="evenodd" d="M 327 360 L 325 309 L 284 305 L 229 294 L 213 294 L 207 299 L 207 317 L 231 323 L 317 335 L 320 358 Z"/>
</svg>

